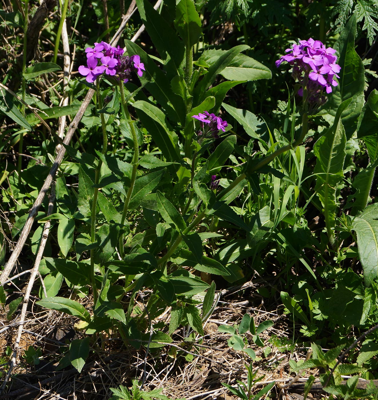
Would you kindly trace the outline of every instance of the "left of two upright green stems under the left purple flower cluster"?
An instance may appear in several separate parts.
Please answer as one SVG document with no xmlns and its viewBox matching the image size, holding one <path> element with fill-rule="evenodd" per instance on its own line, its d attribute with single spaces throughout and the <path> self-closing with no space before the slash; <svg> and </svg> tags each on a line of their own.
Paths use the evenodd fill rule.
<svg viewBox="0 0 378 400">
<path fill-rule="evenodd" d="M 100 81 L 99 78 L 96 80 L 96 95 L 97 95 L 97 106 L 98 110 L 102 108 L 102 99 L 100 93 Z M 102 126 L 102 154 L 106 154 L 106 149 L 108 147 L 108 136 L 106 134 L 106 123 L 104 114 L 100 114 L 101 118 L 101 126 Z M 102 160 L 98 161 L 98 165 L 96 168 L 96 175 L 94 177 L 95 186 L 98 185 L 100 181 L 100 171 L 102 166 Z M 91 212 L 91 221 L 90 221 L 90 239 L 91 242 L 95 242 L 96 238 L 96 209 L 97 209 L 97 198 L 98 198 L 98 188 L 94 188 L 93 190 L 93 199 L 92 199 L 92 212 Z M 90 277 L 92 284 L 92 292 L 93 292 L 93 304 L 97 302 L 97 288 L 96 288 L 96 280 L 94 277 L 94 249 L 90 251 Z"/>
</svg>

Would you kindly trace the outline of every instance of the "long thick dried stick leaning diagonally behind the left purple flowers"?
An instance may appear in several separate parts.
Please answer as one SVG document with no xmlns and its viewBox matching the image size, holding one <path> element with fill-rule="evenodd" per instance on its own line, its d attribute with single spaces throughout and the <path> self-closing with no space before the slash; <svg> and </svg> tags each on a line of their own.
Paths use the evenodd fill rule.
<svg viewBox="0 0 378 400">
<path fill-rule="evenodd" d="M 160 1 L 160 0 L 159 0 Z M 132 4 L 130 5 L 129 10 L 131 9 Z M 135 11 L 135 10 L 134 10 Z M 133 12 L 134 12 L 133 11 Z M 126 23 L 128 21 L 128 19 L 130 19 L 131 15 L 133 12 L 128 12 L 128 14 L 126 14 L 126 16 L 124 17 L 123 21 L 122 21 L 122 25 L 123 25 L 123 29 L 126 26 Z M 127 18 L 128 19 L 127 19 Z M 110 41 L 111 44 L 117 44 L 119 38 L 117 38 L 117 35 L 120 36 L 120 30 L 118 30 L 116 32 L 116 34 L 114 35 L 114 37 L 112 38 L 112 40 Z M 69 144 L 72 136 L 74 134 L 74 131 L 76 130 L 76 127 L 78 126 L 80 120 L 82 119 L 82 116 L 84 115 L 84 112 L 86 110 L 86 108 L 88 107 L 88 104 L 90 103 L 90 100 L 94 94 L 94 90 L 93 89 L 89 89 L 87 95 L 85 96 L 85 99 L 82 103 L 82 105 L 80 106 L 74 120 L 71 122 L 69 128 L 68 128 L 68 132 L 63 140 L 63 144 Z M 28 238 L 28 235 L 30 233 L 30 230 L 32 228 L 32 224 L 34 222 L 34 218 L 42 204 L 42 201 L 44 199 L 44 196 L 48 190 L 48 188 L 50 187 L 50 184 L 52 182 L 52 180 L 54 179 L 54 176 L 56 174 L 56 171 L 58 170 L 60 163 L 63 161 L 63 157 L 64 154 L 66 153 L 66 148 L 62 147 L 60 148 L 60 150 L 58 151 L 58 154 L 56 156 L 55 162 L 54 164 L 52 164 L 52 167 L 50 169 L 50 172 L 42 186 L 41 191 L 39 192 L 36 201 L 34 202 L 32 208 L 29 211 L 29 216 L 28 219 L 25 222 L 24 228 L 22 229 L 22 232 L 20 234 L 20 238 L 18 239 L 18 242 L 16 244 L 16 247 L 14 248 L 8 262 L 6 263 L 4 270 L 2 272 L 2 274 L 0 275 L 0 284 L 3 285 L 4 282 L 8 279 L 8 276 L 10 275 L 10 272 L 12 271 L 14 264 L 16 263 L 16 260 L 18 259 L 18 256 L 20 255 L 22 248 L 24 247 L 24 244 L 26 242 L 26 239 Z"/>
</svg>

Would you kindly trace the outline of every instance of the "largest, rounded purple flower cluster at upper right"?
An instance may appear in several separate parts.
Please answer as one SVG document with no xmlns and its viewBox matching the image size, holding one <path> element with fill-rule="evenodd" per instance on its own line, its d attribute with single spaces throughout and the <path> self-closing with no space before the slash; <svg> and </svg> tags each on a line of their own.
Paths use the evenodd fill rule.
<svg viewBox="0 0 378 400">
<path fill-rule="evenodd" d="M 298 94 L 302 96 L 303 87 L 306 86 L 310 102 L 311 96 L 313 101 L 324 102 L 324 89 L 331 93 L 332 86 L 338 85 L 334 78 L 339 78 L 341 68 L 336 64 L 336 50 L 332 47 L 326 48 L 320 40 L 310 38 L 300 40 L 299 44 L 293 44 L 292 48 L 285 51 L 288 54 L 277 60 L 276 66 L 279 67 L 283 61 L 288 62 L 293 66 L 293 77 L 302 85 Z"/>
</svg>

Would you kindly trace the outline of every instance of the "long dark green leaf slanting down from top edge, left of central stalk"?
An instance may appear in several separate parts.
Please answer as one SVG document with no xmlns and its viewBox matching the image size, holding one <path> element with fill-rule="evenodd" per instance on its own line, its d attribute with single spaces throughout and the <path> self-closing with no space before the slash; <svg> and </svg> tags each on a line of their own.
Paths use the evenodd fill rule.
<svg viewBox="0 0 378 400">
<path fill-rule="evenodd" d="M 185 48 L 176 32 L 170 27 L 168 22 L 152 7 L 147 0 L 136 0 L 136 5 L 146 30 L 150 35 L 156 50 L 160 56 L 166 59 L 166 53 L 174 62 L 175 69 L 178 70 L 184 60 Z M 170 45 L 167 46 L 167 43 Z M 167 64 L 169 64 L 167 62 Z"/>
</svg>

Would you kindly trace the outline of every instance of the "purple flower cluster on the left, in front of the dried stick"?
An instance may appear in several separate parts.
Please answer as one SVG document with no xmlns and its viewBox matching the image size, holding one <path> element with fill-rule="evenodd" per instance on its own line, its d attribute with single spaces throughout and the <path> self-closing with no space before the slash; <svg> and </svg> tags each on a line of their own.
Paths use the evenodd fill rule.
<svg viewBox="0 0 378 400">
<path fill-rule="evenodd" d="M 87 55 L 87 66 L 80 65 L 79 73 L 86 76 L 87 82 L 94 82 L 96 78 L 105 72 L 106 75 L 118 75 L 119 79 L 128 82 L 131 72 L 136 70 L 139 76 L 145 71 L 140 57 L 125 56 L 120 46 L 113 47 L 106 42 L 95 43 L 94 48 L 85 49 Z"/>
</svg>

